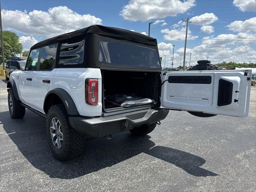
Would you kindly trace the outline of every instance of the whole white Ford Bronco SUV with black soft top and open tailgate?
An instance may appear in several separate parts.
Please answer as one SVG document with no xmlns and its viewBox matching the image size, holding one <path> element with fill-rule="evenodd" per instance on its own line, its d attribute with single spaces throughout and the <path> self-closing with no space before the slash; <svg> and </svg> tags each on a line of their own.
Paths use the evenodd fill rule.
<svg viewBox="0 0 256 192">
<path fill-rule="evenodd" d="M 93 25 L 30 49 L 24 70 L 7 83 L 12 118 L 25 108 L 46 118 L 58 160 L 82 153 L 86 138 L 123 131 L 142 136 L 169 110 L 201 117 L 247 117 L 250 70 L 163 73 L 154 38 Z"/>
</svg>

